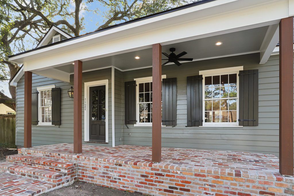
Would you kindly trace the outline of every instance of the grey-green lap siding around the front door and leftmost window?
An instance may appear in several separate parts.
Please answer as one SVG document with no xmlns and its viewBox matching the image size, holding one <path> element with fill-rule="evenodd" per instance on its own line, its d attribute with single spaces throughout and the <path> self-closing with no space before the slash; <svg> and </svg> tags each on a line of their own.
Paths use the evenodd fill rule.
<svg viewBox="0 0 294 196">
<path fill-rule="evenodd" d="M 68 96 L 68 89 L 73 85 L 73 76 L 70 77 L 70 83 L 61 82 L 44 76 L 33 74 L 32 89 L 36 90 L 38 86 L 54 85 L 61 88 L 61 125 L 55 126 L 32 126 L 32 145 L 48 145 L 56 143 L 73 143 L 73 101 Z M 82 139 L 84 141 L 84 82 L 98 81 L 108 79 L 108 140 L 112 145 L 111 131 L 111 68 L 101 69 L 91 72 L 83 72 L 82 84 Z M 24 142 L 24 77 L 22 77 L 16 88 L 16 145 L 23 146 Z M 92 144 L 92 143 L 88 143 Z M 94 144 L 93 144 L 94 145 Z M 99 144 L 100 145 L 100 144 Z"/>
</svg>

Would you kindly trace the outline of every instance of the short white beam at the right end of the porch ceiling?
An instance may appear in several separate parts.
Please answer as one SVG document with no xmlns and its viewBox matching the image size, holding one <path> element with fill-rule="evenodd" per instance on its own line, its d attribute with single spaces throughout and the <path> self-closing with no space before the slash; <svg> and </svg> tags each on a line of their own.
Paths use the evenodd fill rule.
<svg viewBox="0 0 294 196">
<path fill-rule="evenodd" d="M 260 63 L 264 64 L 270 58 L 275 46 L 279 42 L 279 24 L 270 25 L 260 46 Z"/>
</svg>

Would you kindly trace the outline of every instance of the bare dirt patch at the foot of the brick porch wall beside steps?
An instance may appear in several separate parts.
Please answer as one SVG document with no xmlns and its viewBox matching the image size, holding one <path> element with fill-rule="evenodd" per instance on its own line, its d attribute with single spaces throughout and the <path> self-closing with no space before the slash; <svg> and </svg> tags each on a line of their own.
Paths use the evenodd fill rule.
<svg viewBox="0 0 294 196">
<path fill-rule="evenodd" d="M 126 191 L 120 191 L 115 189 L 109 189 L 101 186 L 96 186 L 84 182 L 75 182 L 74 184 L 62 187 L 60 189 L 41 194 L 41 196 L 69 196 L 69 195 L 79 195 L 79 196 L 138 196 L 141 194 L 130 193 Z"/>
</svg>

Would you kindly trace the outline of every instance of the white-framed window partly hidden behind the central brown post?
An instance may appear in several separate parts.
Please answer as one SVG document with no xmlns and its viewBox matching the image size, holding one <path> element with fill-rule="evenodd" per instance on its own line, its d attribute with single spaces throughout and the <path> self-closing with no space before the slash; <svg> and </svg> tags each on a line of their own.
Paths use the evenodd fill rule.
<svg viewBox="0 0 294 196">
<path fill-rule="evenodd" d="M 166 78 L 166 75 L 161 76 Z M 152 77 L 136 78 L 135 126 L 152 126 Z"/>
</svg>

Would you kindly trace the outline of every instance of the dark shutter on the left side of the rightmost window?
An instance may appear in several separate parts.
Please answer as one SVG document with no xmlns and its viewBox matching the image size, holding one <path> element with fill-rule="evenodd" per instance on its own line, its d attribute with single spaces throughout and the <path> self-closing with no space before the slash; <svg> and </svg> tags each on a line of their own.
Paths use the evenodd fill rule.
<svg viewBox="0 0 294 196">
<path fill-rule="evenodd" d="M 187 126 L 203 125 L 202 75 L 187 77 Z"/>
</svg>

